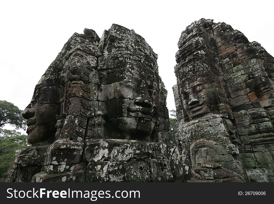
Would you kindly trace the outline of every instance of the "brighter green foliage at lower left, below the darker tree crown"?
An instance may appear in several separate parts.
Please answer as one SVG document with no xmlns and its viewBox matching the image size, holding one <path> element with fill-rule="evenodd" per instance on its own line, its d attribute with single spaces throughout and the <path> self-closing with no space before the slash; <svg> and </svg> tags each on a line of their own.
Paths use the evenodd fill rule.
<svg viewBox="0 0 274 204">
<path fill-rule="evenodd" d="M 27 135 L 22 135 L 15 130 L 2 129 L 0 134 L 0 179 L 4 179 L 16 154 L 26 147 L 30 147 Z"/>
</svg>

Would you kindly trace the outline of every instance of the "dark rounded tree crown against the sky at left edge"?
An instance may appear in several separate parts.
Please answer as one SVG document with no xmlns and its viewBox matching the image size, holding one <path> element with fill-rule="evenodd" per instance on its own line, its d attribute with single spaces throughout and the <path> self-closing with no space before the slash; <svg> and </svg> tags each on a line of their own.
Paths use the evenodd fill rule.
<svg viewBox="0 0 274 204">
<path fill-rule="evenodd" d="M 5 124 L 9 124 L 15 129 L 25 129 L 26 120 L 21 115 L 22 111 L 13 103 L 0 101 L 0 129 Z"/>
</svg>

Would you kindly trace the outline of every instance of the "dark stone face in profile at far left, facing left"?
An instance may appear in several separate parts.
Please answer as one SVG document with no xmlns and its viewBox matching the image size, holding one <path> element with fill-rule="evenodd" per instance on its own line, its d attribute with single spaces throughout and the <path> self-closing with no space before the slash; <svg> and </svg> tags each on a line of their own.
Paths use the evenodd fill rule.
<svg viewBox="0 0 274 204">
<path fill-rule="evenodd" d="M 50 144 L 56 132 L 56 115 L 60 115 L 62 87 L 50 75 L 43 75 L 35 86 L 30 104 L 22 116 L 27 119 L 28 141 L 32 145 Z"/>
</svg>

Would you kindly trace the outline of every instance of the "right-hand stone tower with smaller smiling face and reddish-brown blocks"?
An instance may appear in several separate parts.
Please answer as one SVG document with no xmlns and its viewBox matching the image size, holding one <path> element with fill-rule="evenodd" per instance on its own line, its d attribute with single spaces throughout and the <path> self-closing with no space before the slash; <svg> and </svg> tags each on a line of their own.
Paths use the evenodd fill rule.
<svg viewBox="0 0 274 204">
<path fill-rule="evenodd" d="M 178 48 L 183 163 L 216 162 L 243 181 L 274 181 L 274 58 L 230 25 L 205 19 L 187 26 Z"/>
</svg>

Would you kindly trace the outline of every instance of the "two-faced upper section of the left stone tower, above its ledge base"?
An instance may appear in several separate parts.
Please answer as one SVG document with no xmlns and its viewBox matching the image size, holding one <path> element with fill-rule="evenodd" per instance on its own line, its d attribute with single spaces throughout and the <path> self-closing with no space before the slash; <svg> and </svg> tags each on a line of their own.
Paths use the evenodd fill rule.
<svg viewBox="0 0 274 204">
<path fill-rule="evenodd" d="M 152 134 L 156 136 L 158 129 L 153 130 L 161 112 L 163 91 L 157 55 L 133 30 L 113 25 L 105 35 L 108 37 L 100 42 L 77 35 L 75 40 L 83 38 L 83 42 L 73 41 L 72 48 L 65 46 L 68 50 L 61 52 L 65 57 L 55 60 L 56 65 L 60 61 L 59 69 L 49 69 L 50 73 L 47 70 L 36 85 L 34 97 L 23 112 L 28 119 L 31 144 L 54 141 L 59 128 L 55 126 L 55 115 L 66 117 L 56 138 L 78 139 L 80 135 L 82 139 L 88 136 L 150 141 Z M 99 119 L 94 117 L 98 111 L 102 112 Z M 102 125 L 93 124 L 95 119 L 103 121 Z"/>
</svg>

